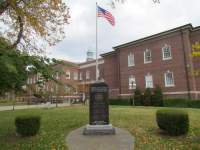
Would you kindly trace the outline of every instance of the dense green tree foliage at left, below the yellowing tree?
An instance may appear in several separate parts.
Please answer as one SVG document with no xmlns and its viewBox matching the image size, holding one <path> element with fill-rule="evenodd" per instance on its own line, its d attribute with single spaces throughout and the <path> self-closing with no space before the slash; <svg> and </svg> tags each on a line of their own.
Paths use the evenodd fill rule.
<svg viewBox="0 0 200 150">
<path fill-rule="evenodd" d="M 10 48 L 10 43 L 0 38 L 0 95 L 22 91 L 30 74 L 40 73 L 45 81 L 54 80 L 53 66 L 59 61 L 30 56 L 26 52 Z"/>
</svg>

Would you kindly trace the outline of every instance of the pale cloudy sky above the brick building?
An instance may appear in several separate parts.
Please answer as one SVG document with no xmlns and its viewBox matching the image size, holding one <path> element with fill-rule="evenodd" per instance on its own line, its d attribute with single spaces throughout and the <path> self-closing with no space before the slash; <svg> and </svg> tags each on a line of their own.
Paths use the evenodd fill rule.
<svg viewBox="0 0 200 150">
<path fill-rule="evenodd" d="M 70 8 L 70 24 L 66 37 L 54 47 L 47 48 L 49 57 L 73 62 L 84 62 L 88 50 L 95 51 L 96 1 L 64 0 Z M 97 0 L 98 5 L 110 11 L 116 25 L 98 18 L 99 54 L 112 51 L 117 45 L 192 23 L 200 26 L 199 0 L 126 0 L 115 9 L 110 0 Z"/>
</svg>

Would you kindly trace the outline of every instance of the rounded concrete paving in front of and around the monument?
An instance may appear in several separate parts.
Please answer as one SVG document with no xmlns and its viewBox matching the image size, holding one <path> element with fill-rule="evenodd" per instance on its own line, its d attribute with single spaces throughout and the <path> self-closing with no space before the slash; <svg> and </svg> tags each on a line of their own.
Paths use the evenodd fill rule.
<svg viewBox="0 0 200 150">
<path fill-rule="evenodd" d="M 66 138 L 69 150 L 133 150 L 134 138 L 126 130 L 115 128 L 115 135 L 82 135 L 83 128 L 76 129 Z"/>
</svg>

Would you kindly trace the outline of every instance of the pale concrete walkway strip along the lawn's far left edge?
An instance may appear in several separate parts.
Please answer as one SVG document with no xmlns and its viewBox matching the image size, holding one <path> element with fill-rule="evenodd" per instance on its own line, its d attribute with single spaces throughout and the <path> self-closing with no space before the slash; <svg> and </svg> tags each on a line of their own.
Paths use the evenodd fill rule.
<svg viewBox="0 0 200 150">
<path fill-rule="evenodd" d="M 70 106 L 70 103 L 58 104 L 58 107 Z M 39 105 L 16 105 L 15 110 L 18 109 L 30 109 L 30 108 L 53 108 L 56 104 L 39 104 Z M 0 111 L 13 110 L 13 106 L 0 106 Z"/>
</svg>

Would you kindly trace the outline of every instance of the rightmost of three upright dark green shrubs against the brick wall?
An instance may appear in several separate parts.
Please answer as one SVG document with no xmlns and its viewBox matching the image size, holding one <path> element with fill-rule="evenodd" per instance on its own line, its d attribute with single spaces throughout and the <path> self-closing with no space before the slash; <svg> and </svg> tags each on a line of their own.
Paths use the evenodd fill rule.
<svg viewBox="0 0 200 150">
<path fill-rule="evenodd" d="M 153 106 L 163 106 L 163 93 L 159 86 L 156 86 L 152 95 L 151 103 Z"/>
</svg>

